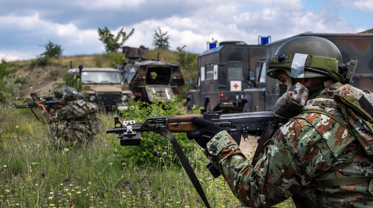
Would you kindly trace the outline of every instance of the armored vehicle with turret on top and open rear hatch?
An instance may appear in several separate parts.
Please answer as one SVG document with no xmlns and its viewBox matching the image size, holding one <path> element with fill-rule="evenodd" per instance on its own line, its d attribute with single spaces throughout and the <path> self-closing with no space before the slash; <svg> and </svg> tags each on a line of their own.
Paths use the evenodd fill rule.
<svg viewBox="0 0 373 208">
<path fill-rule="evenodd" d="M 179 95 L 184 86 L 178 65 L 164 61 L 148 60 L 149 49 L 145 47 L 122 47 L 127 62 L 115 65 L 122 74 L 123 83 L 129 87 L 135 101 L 166 101 Z"/>
</svg>

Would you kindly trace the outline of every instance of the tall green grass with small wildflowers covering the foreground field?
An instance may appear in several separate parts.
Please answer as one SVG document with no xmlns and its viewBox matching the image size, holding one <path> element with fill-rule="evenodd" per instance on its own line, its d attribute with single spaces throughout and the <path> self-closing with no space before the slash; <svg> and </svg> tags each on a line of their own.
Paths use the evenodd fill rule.
<svg viewBox="0 0 373 208">
<path fill-rule="evenodd" d="M 113 116 L 99 115 L 99 134 L 90 145 L 56 150 L 47 125 L 28 109 L 1 107 L 0 207 L 204 207 L 187 173 L 173 162 L 173 149 L 144 165 L 115 154 L 119 141 L 105 134 Z M 148 134 L 143 143 L 150 141 Z M 194 145 L 186 154 L 212 207 L 239 205 L 224 179 L 212 178 L 203 167 L 201 148 Z"/>
</svg>

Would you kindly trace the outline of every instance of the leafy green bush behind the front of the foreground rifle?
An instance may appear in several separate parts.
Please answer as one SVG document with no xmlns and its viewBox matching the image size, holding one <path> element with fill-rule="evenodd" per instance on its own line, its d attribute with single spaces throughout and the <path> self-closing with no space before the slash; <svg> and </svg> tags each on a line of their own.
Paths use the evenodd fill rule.
<svg viewBox="0 0 373 208">
<path fill-rule="evenodd" d="M 171 101 L 153 102 L 152 104 L 130 103 L 127 110 L 121 111 L 122 120 L 135 120 L 142 123 L 148 117 L 187 114 L 182 106 L 183 104 L 176 98 Z M 122 147 L 119 145 L 118 139 L 114 140 L 115 153 L 118 158 L 122 159 L 122 162 L 131 160 L 135 164 L 157 164 L 161 162 L 166 166 L 180 165 L 174 147 L 168 139 L 155 132 L 145 132 L 142 136 L 145 140 L 141 142 L 141 146 Z M 186 133 L 174 133 L 174 136 L 187 155 L 188 153 L 195 153 L 194 141 L 188 140 Z M 160 161 L 160 158 L 162 158 L 162 161 Z"/>
</svg>

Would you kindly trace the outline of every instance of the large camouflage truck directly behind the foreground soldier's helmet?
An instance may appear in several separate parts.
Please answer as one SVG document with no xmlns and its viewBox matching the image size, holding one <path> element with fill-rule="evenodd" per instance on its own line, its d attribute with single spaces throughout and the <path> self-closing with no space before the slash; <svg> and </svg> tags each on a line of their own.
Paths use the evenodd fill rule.
<svg viewBox="0 0 373 208">
<path fill-rule="evenodd" d="M 267 79 L 267 60 L 276 54 L 287 40 L 300 36 L 319 36 L 333 42 L 340 50 L 343 62 L 358 60 L 351 85 L 373 91 L 373 34 L 326 34 L 302 33 L 266 45 L 266 52 L 260 63 L 260 72 L 256 73 L 253 85 L 244 89 L 241 94 L 243 112 L 272 110 L 280 97 L 279 82 Z"/>
</svg>

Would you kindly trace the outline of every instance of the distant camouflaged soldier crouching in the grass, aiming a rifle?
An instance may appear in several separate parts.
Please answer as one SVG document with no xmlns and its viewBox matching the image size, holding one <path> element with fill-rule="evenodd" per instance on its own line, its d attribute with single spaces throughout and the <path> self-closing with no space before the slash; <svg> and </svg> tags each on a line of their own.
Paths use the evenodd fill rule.
<svg viewBox="0 0 373 208">
<path fill-rule="evenodd" d="M 44 105 L 39 105 L 44 110 L 44 116 L 51 124 L 52 136 L 55 145 L 59 146 L 60 139 L 82 146 L 93 140 L 97 134 L 100 120 L 96 117 L 98 107 L 83 100 L 83 94 L 74 88 L 67 87 L 60 100 L 62 107 L 50 115 Z"/>
</svg>

